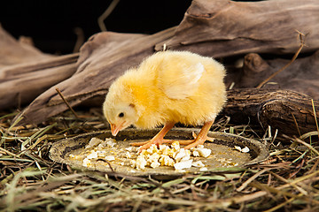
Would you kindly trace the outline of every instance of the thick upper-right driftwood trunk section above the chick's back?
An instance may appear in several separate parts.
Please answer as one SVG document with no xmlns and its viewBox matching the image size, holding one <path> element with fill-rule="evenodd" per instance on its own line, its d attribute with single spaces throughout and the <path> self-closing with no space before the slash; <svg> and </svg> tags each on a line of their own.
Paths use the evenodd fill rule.
<svg viewBox="0 0 319 212">
<path fill-rule="evenodd" d="M 295 53 L 298 32 L 307 34 L 307 48 L 319 47 L 319 1 L 258 2 L 195 0 L 185 12 L 174 37 L 155 49 L 191 50 L 228 57 L 246 53 Z"/>
</svg>

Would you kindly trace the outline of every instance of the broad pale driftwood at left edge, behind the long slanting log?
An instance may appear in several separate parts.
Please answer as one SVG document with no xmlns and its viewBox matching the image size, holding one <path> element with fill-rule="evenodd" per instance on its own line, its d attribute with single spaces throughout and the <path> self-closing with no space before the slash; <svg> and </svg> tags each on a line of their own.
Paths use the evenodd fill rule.
<svg viewBox="0 0 319 212">
<path fill-rule="evenodd" d="M 32 102 L 76 71 L 78 54 L 55 57 L 20 41 L 0 26 L 0 110 Z"/>
</svg>

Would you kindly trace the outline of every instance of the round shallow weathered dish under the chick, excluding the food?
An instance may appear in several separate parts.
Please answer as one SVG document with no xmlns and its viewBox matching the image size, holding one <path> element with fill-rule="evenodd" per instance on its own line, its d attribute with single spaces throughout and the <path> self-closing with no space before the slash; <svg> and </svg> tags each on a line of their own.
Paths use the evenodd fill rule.
<svg viewBox="0 0 319 212">
<path fill-rule="evenodd" d="M 116 136 L 117 145 L 110 149 L 110 155 L 116 158 L 113 162 L 105 162 L 103 160 L 97 161 L 90 167 L 82 166 L 81 161 L 70 158 L 70 154 L 80 154 L 85 151 L 85 146 L 89 143 L 91 138 L 98 138 L 105 140 L 105 138 L 113 138 L 110 131 L 101 131 L 96 133 L 85 133 L 78 135 L 74 138 L 59 140 L 51 147 L 50 157 L 51 160 L 58 163 L 66 163 L 74 169 L 82 170 L 99 170 L 99 171 L 115 171 L 121 174 L 129 174 L 132 176 L 180 176 L 184 173 L 203 173 L 215 171 L 217 168 L 223 167 L 244 167 L 245 165 L 260 163 L 268 158 L 268 150 L 266 147 L 257 140 L 247 139 L 235 134 L 230 133 L 216 133 L 209 132 L 208 136 L 213 137 L 214 142 L 206 141 L 205 148 L 212 150 L 212 156 L 207 158 L 200 158 L 206 165 L 206 171 L 199 171 L 199 168 L 191 167 L 185 172 L 176 171 L 173 167 L 159 166 L 155 169 L 145 168 L 144 170 L 136 170 L 129 165 L 129 160 L 124 156 L 125 148 L 130 147 L 129 143 L 144 140 L 150 140 L 159 129 L 153 130 L 137 130 L 127 129 L 121 131 Z M 192 139 L 192 132 L 198 133 L 199 129 L 194 128 L 173 128 L 167 133 L 167 139 L 173 140 L 189 140 Z M 235 149 L 235 146 L 241 148 L 249 148 L 248 153 L 243 153 Z M 198 158 L 195 158 L 198 160 Z M 124 163 L 124 165 L 123 165 Z M 112 167 L 112 169 L 110 168 Z"/>
</svg>

